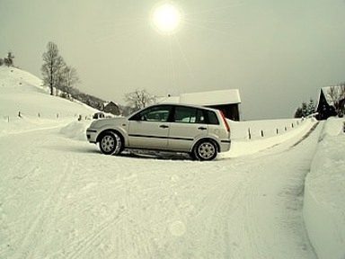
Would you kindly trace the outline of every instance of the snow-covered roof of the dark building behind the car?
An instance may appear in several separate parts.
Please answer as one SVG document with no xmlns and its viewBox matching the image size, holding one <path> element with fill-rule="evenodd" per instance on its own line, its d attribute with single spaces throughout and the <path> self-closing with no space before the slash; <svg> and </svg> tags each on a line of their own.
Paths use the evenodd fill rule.
<svg viewBox="0 0 345 259">
<path fill-rule="evenodd" d="M 217 90 L 199 93 L 181 94 L 160 98 L 158 103 L 188 103 L 196 105 L 219 105 L 241 103 L 238 89 Z"/>
</svg>

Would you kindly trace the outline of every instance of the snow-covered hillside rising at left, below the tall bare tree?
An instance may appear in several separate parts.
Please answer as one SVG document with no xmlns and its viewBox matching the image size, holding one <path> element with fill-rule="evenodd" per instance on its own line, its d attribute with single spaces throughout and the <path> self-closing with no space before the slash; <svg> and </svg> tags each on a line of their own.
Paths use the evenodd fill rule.
<svg viewBox="0 0 345 259">
<path fill-rule="evenodd" d="M 53 127 L 96 112 L 83 103 L 51 96 L 49 89 L 41 85 L 40 78 L 28 72 L 0 67 L 0 135 Z"/>
</svg>

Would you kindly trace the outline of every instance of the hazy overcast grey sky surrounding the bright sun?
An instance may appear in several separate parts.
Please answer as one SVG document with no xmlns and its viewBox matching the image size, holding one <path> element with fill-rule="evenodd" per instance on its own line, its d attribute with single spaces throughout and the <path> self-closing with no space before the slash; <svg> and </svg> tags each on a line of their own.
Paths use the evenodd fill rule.
<svg viewBox="0 0 345 259">
<path fill-rule="evenodd" d="M 167 1 L 165 1 L 167 2 Z M 320 87 L 345 81 L 344 0 L 169 1 L 179 30 L 154 30 L 153 0 L 0 0 L 0 57 L 41 76 L 47 43 L 75 67 L 77 87 L 124 94 L 237 88 L 244 120 L 290 118 Z"/>
</svg>

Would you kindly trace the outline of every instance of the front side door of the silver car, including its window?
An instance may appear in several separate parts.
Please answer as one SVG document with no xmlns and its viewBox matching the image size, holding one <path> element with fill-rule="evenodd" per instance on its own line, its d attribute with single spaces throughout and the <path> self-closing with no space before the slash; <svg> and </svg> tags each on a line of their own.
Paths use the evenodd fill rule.
<svg viewBox="0 0 345 259">
<path fill-rule="evenodd" d="M 168 146 L 171 110 L 170 105 L 157 105 L 130 118 L 128 147 L 165 149 Z"/>
</svg>

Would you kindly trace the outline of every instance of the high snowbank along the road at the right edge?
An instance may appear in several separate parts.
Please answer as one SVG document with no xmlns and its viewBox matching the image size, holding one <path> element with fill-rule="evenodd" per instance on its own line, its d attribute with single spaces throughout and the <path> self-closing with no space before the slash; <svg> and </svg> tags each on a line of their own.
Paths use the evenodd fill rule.
<svg viewBox="0 0 345 259">
<path fill-rule="evenodd" d="M 304 217 L 321 259 L 345 258 L 345 120 L 329 119 L 305 179 Z"/>
</svg>

